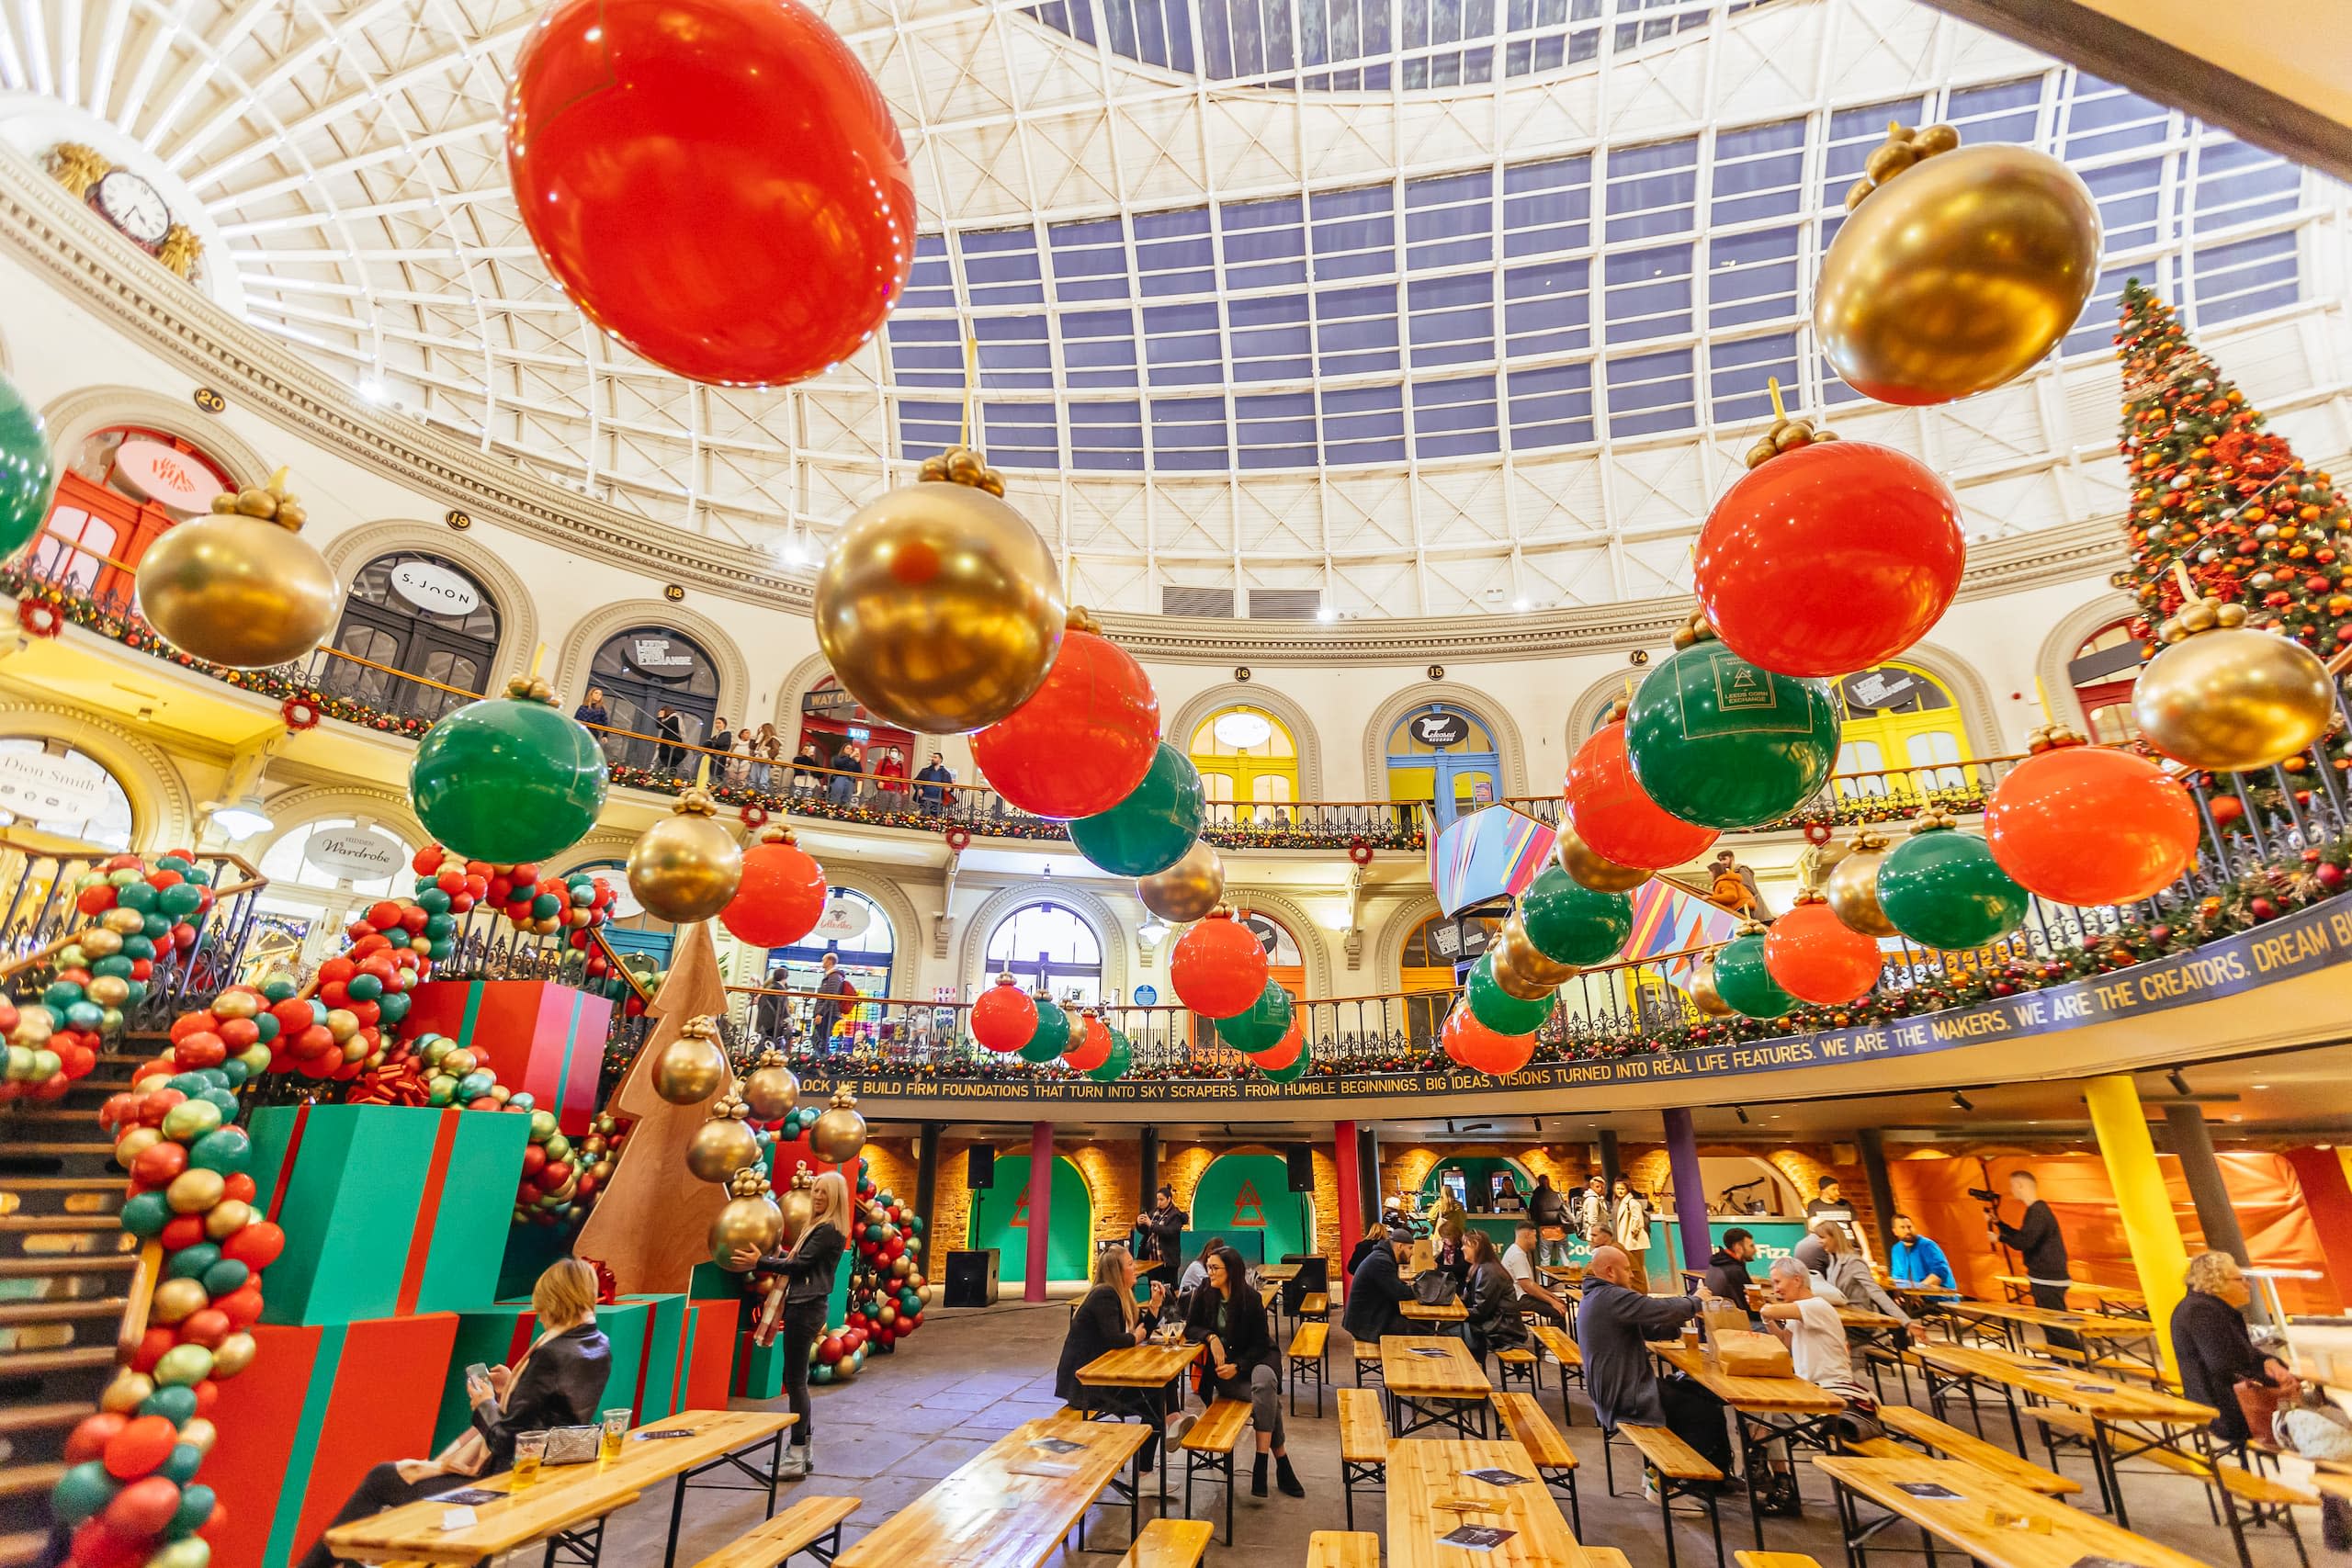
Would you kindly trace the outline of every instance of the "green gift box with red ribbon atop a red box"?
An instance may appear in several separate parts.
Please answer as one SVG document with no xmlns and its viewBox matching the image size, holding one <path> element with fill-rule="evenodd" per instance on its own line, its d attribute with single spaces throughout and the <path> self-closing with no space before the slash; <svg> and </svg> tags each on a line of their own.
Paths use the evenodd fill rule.
<svg viewBox="0 0 2352 1568">
<path fill-rule="evenodd" d="M 532 1119 L 407 1105 L 254 1112 L 252 1178 L 287 1232 L 266 1324 L 489 1307 Z"/>
</svg>

